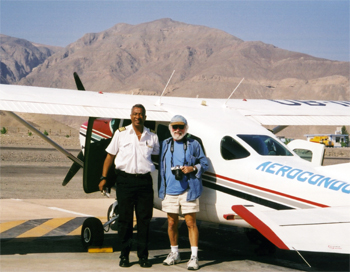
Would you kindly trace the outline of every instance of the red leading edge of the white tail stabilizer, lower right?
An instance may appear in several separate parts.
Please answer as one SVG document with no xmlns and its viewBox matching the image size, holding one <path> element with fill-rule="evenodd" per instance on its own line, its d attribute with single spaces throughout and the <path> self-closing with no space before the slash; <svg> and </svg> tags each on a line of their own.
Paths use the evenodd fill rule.
<svg viewBox="0 0 350 272">
<path fill-rule="evenodd" d="M 251 226 L 257 229 L 267 239 L 269 239 L 269 241 L 272 242 L 275 246 L 280 249 L 289 250 L 286 244 L 283 243 L 283 241 L 276 235 L 276 233 L 274 233 L 263 221 L 251 213 L 247 208 L 242 205 L 234 205 L 232 206 L 232 210 L 240 217 L 242 217 L 245 221 L 247 221 Z"/>
</svg>

